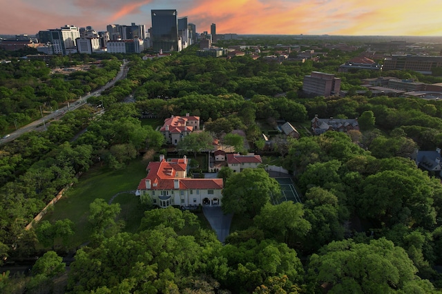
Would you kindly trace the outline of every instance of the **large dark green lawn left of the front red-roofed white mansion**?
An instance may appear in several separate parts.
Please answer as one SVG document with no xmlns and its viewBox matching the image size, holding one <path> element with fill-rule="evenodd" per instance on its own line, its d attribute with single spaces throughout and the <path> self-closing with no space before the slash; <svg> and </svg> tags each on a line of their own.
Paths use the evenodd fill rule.
<svg viewBox="0 0 442 294">
<path fill-rule="evenodd" d="M 140 158 L 133 160 L 125 169 L 117 171 L 95 165 L 79 178 L 76 185 L 66 191 L 64 197 L 55 204 L 53 211 L 44 216 L 43 220 L 50 222 L 65 218 L 72 220 L 76 224 L 76 234 L 72 245 L 79 246 L 88 241 L 89 204 L 95 198 L 102 198 L 108 202 L 119 192 L 137 189 L 140 180 L 146 176 L 145 169 L 146 162 L 142 162 Z M 135 218 L 140 216 L 137 198 L 124 193 L 117 196 L 114 202 L 122 205 L 120 217 L 127 219 L 127 230 L 133 231 L 137 222 Z"/>
</svg>

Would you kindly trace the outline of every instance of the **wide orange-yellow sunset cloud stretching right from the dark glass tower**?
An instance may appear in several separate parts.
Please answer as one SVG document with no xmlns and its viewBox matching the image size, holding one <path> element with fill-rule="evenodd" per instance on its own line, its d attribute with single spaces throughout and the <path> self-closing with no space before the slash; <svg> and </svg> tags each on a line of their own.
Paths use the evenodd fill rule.
<svg viewBox="0 0 442 294">
<path fill-rule="evenodd" d="M 211 0 L 180 14 L 198 20 L 199 32 L 216 23 L 217 32 L 238 34 L 442 34 L 439 2 L 419 1 L 422 19 L 411 0 Z"/>
</svg>

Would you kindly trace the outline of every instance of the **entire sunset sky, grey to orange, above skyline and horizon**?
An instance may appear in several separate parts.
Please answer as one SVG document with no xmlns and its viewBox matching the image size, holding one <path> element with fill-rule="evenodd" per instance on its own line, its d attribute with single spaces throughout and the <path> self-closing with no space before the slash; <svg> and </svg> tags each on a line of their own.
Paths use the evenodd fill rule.
<svg viewBox="0 0 442 294">
<path fill-rule="evenodd" d="M 441 0 L 0 0 L 0 34 L 63 25 L 151 27 L 151 9 L 176 9 L 197 32 L 442 36 Z"/>
</svg>

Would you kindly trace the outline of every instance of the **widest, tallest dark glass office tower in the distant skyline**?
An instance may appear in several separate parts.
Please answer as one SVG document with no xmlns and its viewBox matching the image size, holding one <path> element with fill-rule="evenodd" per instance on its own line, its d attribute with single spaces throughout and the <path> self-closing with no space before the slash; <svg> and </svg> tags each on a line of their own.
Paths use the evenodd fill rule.
<svg viewBox="0 0 442 294">
<path fill-rule="evenodd" d="M 153 50 L 180 51 L 178 44 L 177 10 L 151 10 Z"/>
</svg>

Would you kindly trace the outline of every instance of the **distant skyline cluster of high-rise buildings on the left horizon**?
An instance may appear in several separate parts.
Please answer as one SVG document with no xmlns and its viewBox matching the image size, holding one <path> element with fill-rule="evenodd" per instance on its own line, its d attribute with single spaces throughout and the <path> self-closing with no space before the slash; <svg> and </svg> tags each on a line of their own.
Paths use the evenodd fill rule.
<svg viewBox="0 0 442 294">
<path fill-rule="evenodd" d="M 140 53 L 151 48 L 157 54 L 180 52 L 189 45 L 200 42 L 204 50 L 201 56 L 220 56 L 220 50 L 209 50 L 217 39 L 235 39 L 236 34 L 216 34 L 215 23 L 211 31 L 198 35 L 196 25 L 189 23 L 187 17 L 178 17 L 177 10 L 151 10 L 152 26 L 145 25 L 107 25 L 106 31 L 96 32 L 92 27 L 78 28 L 64 25 L 61 28 L 41 30 L 35 39 L 27 35 L 15 39 L 1 40 L 0 48 L 19 50 L 32 47 L 43 54 L 92 54 L 92 53 Z"/>
</svg>

